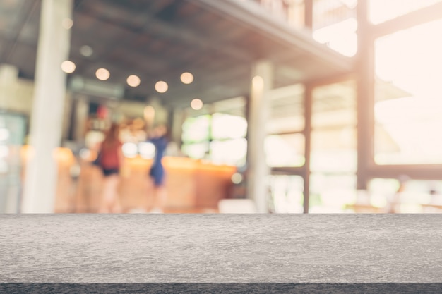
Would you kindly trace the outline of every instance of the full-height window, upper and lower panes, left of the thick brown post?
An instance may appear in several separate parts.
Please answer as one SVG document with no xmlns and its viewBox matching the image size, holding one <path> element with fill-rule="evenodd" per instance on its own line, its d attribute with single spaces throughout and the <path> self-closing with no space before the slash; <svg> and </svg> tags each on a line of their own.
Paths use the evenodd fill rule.
<svg viewBox="0 0 442 294">
<path fill-rule="evenodd" d="M 309 212 L 346 212 L 357 199 L 356 84 L 313 90 Z"/>
</svg>

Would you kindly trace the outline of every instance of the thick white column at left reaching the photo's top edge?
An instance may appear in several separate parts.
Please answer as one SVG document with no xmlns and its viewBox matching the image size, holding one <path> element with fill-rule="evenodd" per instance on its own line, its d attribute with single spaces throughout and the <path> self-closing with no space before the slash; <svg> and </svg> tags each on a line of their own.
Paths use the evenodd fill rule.
<svg viewBox="0 0 442 294">
<path fill-rule="evenodd" d="M 35 66 L 35 94 L 30 124 L 33 156 L 28 161 L 22 212 L 54 212 L 57 167 L 53 153 L 59 147 L 63 126 L 70 30 L 62 25 L 72 18 L 72 0 L 42 0 L 40 37 Z"/>
</svg>

